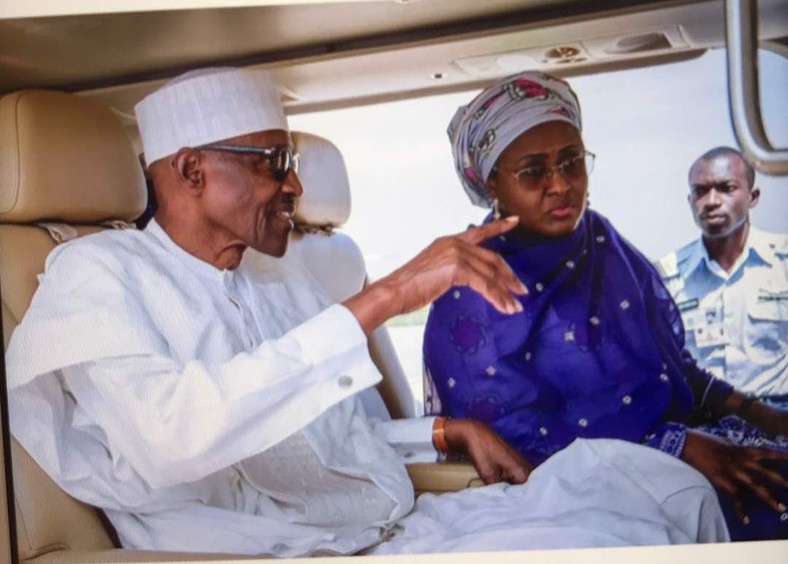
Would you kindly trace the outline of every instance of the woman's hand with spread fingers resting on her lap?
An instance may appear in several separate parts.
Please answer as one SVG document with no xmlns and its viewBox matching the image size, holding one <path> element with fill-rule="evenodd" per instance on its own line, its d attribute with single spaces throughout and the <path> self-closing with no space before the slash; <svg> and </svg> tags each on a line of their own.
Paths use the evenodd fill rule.
<svg viewBox="0 0 788 564">
<path fill-rule="evenodd" d="M 788 462 L 788 453 L 742 447 L 688 431 L 681 458 L 706 476 L 715 489 L 731 498 L 734 511 L 745 524 L 749 523 L 749 517 L 744 513 L 741 495 L 746 490 L 775 511 L 782 513 L 786 510 L 769 487 L 788 487 L 788 480 L 769 468 L 768 462 Z"/>
</svg>

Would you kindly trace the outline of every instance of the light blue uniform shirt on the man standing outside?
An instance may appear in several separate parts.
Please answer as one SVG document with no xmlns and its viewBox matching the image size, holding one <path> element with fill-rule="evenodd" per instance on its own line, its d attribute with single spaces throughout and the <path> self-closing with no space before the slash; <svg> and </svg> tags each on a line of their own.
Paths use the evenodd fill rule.
<svg viewBox="0 0 788 564">
<path fill-rule="evenodd" d="M 702 239 L 657 263 L 701 367 L 759 397 L 788 394 L 788 237 L 750 226 L 730 273 Z"/>
</svg>

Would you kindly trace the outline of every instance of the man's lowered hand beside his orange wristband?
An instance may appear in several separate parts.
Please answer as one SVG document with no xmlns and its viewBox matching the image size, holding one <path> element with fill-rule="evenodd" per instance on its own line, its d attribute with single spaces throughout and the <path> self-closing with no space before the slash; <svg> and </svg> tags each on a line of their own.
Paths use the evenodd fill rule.
<svg viewBox="0 0 788 564">
<path fill-rule="evenodd" d="M 449 449 L 467 453 L 485 484 L 522 484 L 533 470 L 525 458 L 484 423 L 449 419 L 444 431 Z"/>
</svg>

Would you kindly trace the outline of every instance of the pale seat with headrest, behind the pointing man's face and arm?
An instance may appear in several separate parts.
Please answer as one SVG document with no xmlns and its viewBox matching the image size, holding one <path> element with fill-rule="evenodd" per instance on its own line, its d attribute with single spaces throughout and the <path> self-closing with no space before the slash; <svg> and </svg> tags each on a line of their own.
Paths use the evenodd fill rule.
<svg viewBox="0 0 788 564">
<path fill-rule="evenodd" d="M 336 302 L 358 293 L 367 283 L 366 265 L 358 245 L 336 231 L 350 216 L 350 182 L 345 161 L 330 141 L 293 132 L 301 155 L 298 176 L 304 194 L 298 203 L 291 251 L 301 253 L 312 275 Z M 377 390 L 391 417 L 415 416 L 413 394 L 385 326 L 369 338 L 369 352 L 383 381 Z"/>
</svg>

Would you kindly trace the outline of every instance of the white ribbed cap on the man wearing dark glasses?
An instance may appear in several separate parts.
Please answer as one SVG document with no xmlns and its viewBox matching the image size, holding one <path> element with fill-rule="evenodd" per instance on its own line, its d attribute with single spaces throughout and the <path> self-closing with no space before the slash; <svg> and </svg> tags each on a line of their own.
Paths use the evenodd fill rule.
<svg viewBox="0 0 788 564">
<path fill-rule="evenodd" d="M 209 68 L 182 74 L 135 107 L 145 162 L 238 135 L 288 130 L 271 73 Z"/>
</svg>

